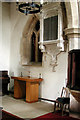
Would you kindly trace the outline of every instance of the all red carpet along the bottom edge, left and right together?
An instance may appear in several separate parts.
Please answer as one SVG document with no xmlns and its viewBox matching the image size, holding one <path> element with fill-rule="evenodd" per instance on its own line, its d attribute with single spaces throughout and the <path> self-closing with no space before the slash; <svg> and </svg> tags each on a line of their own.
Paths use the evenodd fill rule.
<svg viewBox="0 0 80 120">
<path fill-rule="evenodd" d="M 61 116 L 60 113 L 48 113 L 48 114 L 45 114 L 45 115 L 42 115 L 40 117 L 37 117 L 37 118 L 33 118 L 33 119 L 30 119 L 30 118 L 20 118 L 16 115 L 13 115 L 9 112 L 6 112 L 4 110 L 2 110 L 2 119 L 1 120 L 80 120 L 80 119 L 77 119 L 77 118 L 72 118 L 72 117 L 69 117 L 69 116 Z"/>
</svg>

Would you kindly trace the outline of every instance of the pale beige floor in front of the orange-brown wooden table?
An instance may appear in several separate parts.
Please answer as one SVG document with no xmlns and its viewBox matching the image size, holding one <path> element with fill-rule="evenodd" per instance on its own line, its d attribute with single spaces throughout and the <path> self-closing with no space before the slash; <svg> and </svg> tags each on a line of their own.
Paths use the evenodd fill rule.
<svg viewBox="0 0 80 120">
<path fill-rule="evenodd" d="M 24 119 L 35 118 L 54 110 L 54 104 L 43 101 L 26 103 L 24 99 L 15 99 L 13 95 L 3 96 L 2 106 L 4 110 Z M 78 113 L 70 113 L 70 116 L 80 119 L 80 114 Z"/>
</svg>

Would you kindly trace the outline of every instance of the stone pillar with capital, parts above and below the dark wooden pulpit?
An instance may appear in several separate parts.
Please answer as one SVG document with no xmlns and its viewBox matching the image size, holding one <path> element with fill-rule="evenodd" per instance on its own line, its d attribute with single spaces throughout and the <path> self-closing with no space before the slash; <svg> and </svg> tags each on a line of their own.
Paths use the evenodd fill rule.
<svg viewBox="0 0 80 120">
<path fill-rule="evenodd" d="M 80 49 L 80 28 L 66 28 L 65 34 L 69 40 L 69 51 L 73 49 Z M 70 110 L 80 112 L 80 103 L 71 95 L 70 96 Z"/>
</svg>

